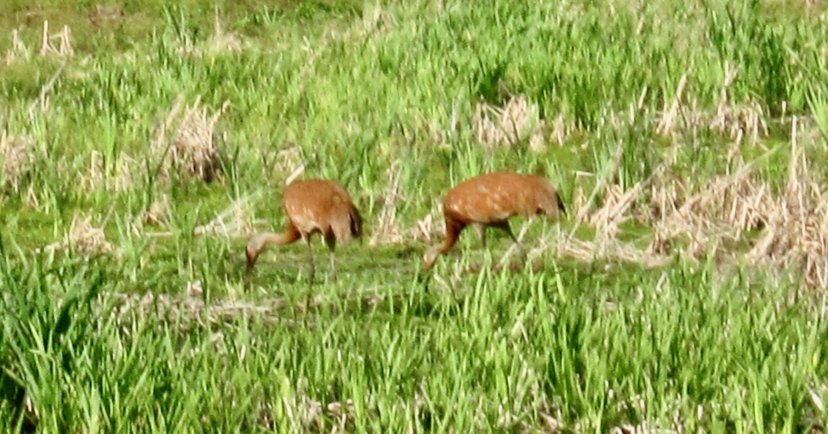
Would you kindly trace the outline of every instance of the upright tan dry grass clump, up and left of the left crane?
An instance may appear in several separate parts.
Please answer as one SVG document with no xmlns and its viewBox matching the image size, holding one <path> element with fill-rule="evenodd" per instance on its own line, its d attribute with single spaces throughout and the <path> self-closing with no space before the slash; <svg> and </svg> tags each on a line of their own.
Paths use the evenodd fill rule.
<svg viewBox="0 0 828 434">
<path fill-rule="evenodd" d="M 151 150 L 156 161 L 160 161 L 156 164 L 159 165 L 158 176 L 161 179 L 169 179 L 171 173 L 177 173 L 183 179 L 205 182 L 219 177 L 221 165 L 214 128 L 229 107 L 229 102 L 225 101 L 212 116 L 208 116 L 207 108 L 202 107 L 200 102 L 199 96 L 195 103 L 184 109 L 180 95 L 167 113 L 166 120 L 156 130 Z M 175 131 L 171 139 L 170 131 Z"/>
</svg>

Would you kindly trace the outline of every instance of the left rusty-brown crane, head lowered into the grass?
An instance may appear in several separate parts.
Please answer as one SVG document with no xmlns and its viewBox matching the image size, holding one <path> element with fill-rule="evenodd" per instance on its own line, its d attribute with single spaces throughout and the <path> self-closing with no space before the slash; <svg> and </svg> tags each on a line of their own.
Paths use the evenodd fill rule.
<svg viewBox="0 0 828 434">
<path fill-rule="evenodd" d="M 362 236 L 362 217 L 359 210 L 354 207 L 354 201 L 348 192 L 333 181 L 309 179 L 296 181 L 285 187 L 282 202 L 287 214 L 287 227 L 281 234 L 258 232 L 250 236 L 246 275 L 250 275 L 253 265 L 267 244 L 291 244 L 301 238 L 308 246 L 308 275 L 313 283 L 315 267 L 310 236 L 319 233 L 330 251 L 331 279 L 336 280 L 336 243 Z"/>
</svg>

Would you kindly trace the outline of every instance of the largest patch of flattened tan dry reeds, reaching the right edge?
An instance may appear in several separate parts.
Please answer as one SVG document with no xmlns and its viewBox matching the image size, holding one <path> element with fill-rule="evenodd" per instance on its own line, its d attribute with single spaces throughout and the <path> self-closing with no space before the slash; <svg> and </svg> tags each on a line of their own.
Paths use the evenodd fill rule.
<svg viewBox="0 0 828 434">
<path fill-rule="evenodd" d="M 753 120 L 749 127 L 739 122 L 729 123 L 737 124 L 743 125 L 734 132 L 737 142 L 744 134 L 763 134 L 763 122 Z M 792 276 L 802 279 L 806 288 L 828 288 L 825 187 L 809 171 L 805 149 L 797 138 L 799 124 L 794 118 L 788 180 L 782 193 L 774 192 L 759 178 L 753 163 L 744 162 L 732 174 L 700 179 L 695 193 L 691 193 L 684 179 L 671 174 L 667 165 L 659 166 L 650 179 L 626 191 L 615 184 L 598 183 L 592 197 L 600 191 L 604 200 L 595 210 L 576 182 L 576 220 L 599 229 L 599 236 L 593 242 L 576 240 L 571 233 L 563 236 L 557 242 L 557 255 L 659 265 L 667 262 L 676 246 L 681 246 L 678 253 L 691 259 L 703 255 L 734 259 L 744 254 L 753 265 L 791 272 Z M 669 122 L 663 125 L 666 125 L 664 131 L 670 130 Z M 608 179 L 612 177 L 610 174 Z M 633 218 L 654 229 L 646 250 L 626 245 L 616 237 L 619 222 Z M 761 231 L 746 254 L 729 247 L 728 242 L 730 245 L 747 242 L 746 231 Z"/>
</svg>

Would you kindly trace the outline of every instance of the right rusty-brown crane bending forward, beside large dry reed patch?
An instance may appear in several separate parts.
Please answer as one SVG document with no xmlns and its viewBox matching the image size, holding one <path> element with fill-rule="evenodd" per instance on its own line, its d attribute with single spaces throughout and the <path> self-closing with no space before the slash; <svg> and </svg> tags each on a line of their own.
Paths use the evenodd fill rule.
<svg viewBox="0 0 828 434">
<path fill-rule="evenodd" d="M 474 227 L 484 246 L 486 229 L 497 227 L 520 247 L 508 219 L 517 215 L 528 218 L 539 214 L 551 217 L 566 214 L 561 197 L 546 179 L 512 172 L 493 172 L 466 179 L 443 199 L 445 241 L 426 250 L 422 257 L 426 269 L 431 269 L 437 257 L 455 245 L 460 231 L 467 226 Z"/>
</svg>

